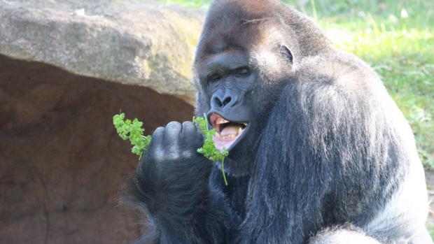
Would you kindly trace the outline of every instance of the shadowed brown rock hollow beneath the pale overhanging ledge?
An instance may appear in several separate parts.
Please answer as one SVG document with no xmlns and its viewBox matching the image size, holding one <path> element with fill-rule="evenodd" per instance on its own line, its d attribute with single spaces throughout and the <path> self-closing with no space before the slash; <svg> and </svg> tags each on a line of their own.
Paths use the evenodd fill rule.
<svg viewBox="0 0 434 244">
<path fill-rule="evenodd" d="M 120 110 L 148 133 L 193 116 L 147 87 L 0 55 L 0 243 L 119 244 L 146 231 L 119 204 L 138 160 L 113 128 Z"/>
</svg>

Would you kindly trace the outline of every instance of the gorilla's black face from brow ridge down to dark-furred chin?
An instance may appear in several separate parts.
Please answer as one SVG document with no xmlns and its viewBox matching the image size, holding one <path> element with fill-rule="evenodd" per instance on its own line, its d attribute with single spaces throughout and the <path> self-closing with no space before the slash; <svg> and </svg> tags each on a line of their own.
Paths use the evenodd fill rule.
<svg viewBox="0 0 434 244">
<path fill-rule="evenodd" d="M 233 164 L 241 166 L 253 154 L 259 137 L 257 114 L 262 107 L 256 102 L 260 91 L 258 74 L 248 65 L 248 57 L 241 51 L 226 51 L 202 63 L 197 72 L 204 102 L 204 113 L 211 127 L 216 129 L 213 140 L 216 148 L 230 152 L 225 165 L 231 173 L 242 174 Z"/>
</svg>

